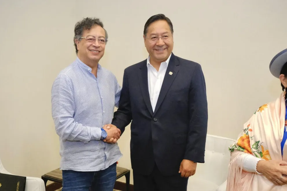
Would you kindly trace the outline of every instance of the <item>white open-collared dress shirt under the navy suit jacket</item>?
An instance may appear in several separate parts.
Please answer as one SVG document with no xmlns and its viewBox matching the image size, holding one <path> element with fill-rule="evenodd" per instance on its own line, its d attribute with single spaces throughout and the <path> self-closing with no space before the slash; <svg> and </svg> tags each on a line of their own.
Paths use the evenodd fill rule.
<svg viewBox="0 0 287 191">
<path fill-rule="evenodd" d="M 170 54 L 171 56 L 171 54 Z M 150 64 L 150 56 L 147 59 L 147 67 L 148 67 L 148 92 L 150 94 L 150 103 L 152 104 L 152 110 L 154 111 L 155 106 L 157 105 L 157 99 L 159 98 L 159 92 L 161 91 L 161 85 L 163 82 L 163 78 L 168 68 L 168 63 L 170 61 L 170 56 L 165 62 L 162 62 L 159 71 L 155 69 Z"/>
</svg>

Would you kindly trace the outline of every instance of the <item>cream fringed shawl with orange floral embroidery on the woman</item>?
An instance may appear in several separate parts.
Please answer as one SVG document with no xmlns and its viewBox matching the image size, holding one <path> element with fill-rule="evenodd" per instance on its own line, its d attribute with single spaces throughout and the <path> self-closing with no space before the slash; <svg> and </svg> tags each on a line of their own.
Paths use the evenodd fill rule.
<svg viewBox="0 0 287 191">
<path fill-rule="evenodd" d="M 281 141 L 285 127 L 285 99 L 283 94 L 276 101 L 259 107 L 244 124 L 237 141 L 229 147 L 231 158 L 226 191 L 283 191 L 287 185 L 276 186 L 264 175 L 242 170 L 245 154 L 264 160 L 282 160 Z M 287 141 L 283 150 L 287 161 Z"/>
</svg>

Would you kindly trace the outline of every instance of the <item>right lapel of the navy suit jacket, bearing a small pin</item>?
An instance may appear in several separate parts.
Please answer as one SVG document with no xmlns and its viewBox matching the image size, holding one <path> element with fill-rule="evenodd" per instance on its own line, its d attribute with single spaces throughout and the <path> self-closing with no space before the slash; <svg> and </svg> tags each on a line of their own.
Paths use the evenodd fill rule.
<svg viewBox="0 0 287 191">
<path fill-rule="evenodd" d="M 159 98 L 157 99 L 157 105 L 155 106 L 154 114 L 157 112 L 161 103 L 163 102 L 163 99 L 165 98 L 165 95 L 168 92 L 178 71 L 179 71 L 179 62 L 176 60 L 174 54 L 172 53 L 170 61 L 168 63 L 168 68 L 166 69 L 165 72 L 163 83 L 161 85 L 161 91 L 159 92 Z"/>
</svg>

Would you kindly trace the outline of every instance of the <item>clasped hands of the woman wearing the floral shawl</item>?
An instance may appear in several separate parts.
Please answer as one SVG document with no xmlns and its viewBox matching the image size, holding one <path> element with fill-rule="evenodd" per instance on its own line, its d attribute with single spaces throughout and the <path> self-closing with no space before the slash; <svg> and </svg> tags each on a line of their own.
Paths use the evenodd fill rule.
<svg viewBox="0 0 287 191">
<path fill-rule="evenodd" d="M 275 185 L 287 184 L 287 162 L 260 160 L 256 167 L 257 172 L 263 174 Z"/>
</svg>

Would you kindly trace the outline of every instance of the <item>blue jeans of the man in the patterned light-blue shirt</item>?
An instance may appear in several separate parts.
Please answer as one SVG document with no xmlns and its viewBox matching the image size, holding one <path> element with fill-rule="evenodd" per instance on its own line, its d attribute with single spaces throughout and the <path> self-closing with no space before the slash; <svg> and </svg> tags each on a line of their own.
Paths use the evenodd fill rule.
<svg viewBox="0 0 287 191">
<path fill-rule="evenodd" d="M 62 170 L 62 191 L 113 191 L 117 163 L 97 172 Z"/>
</svg>

